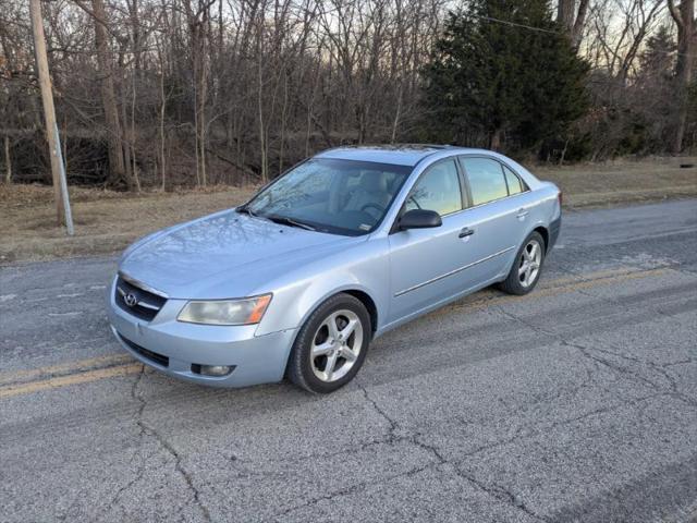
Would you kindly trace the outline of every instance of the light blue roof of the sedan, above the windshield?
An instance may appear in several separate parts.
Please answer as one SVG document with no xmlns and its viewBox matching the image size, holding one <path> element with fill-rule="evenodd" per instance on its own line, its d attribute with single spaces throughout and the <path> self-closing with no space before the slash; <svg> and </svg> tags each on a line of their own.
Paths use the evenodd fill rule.
<svg viewBox="0 0 697 523">
<path fill-rule="evenodd" d="M 319 153 L 315 158 L 334 158 L 341 160 L 376 161 L 395 166 L 413 167 L 420 160 L 436 153 L 452 149 L 453 151 L 470 151 L 452 145 L 396 144 L 396 145 L 359 145 L 344 146 Z"/>
</svg>

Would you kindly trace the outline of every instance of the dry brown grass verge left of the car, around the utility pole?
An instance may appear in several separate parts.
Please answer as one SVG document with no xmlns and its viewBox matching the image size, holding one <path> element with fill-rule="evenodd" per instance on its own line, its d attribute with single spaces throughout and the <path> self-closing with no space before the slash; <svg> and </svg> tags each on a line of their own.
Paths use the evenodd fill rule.
<svg viewBox="0 0 697 523">
<path fill-rule="evenodd" d="M 111 254 L 151 231 L 233 207 L 254 187 L 129 195 L 71 188 L 75 235 L 56 226 L 51 187 L 0 185 L 0 264 Z"/>
</svg>

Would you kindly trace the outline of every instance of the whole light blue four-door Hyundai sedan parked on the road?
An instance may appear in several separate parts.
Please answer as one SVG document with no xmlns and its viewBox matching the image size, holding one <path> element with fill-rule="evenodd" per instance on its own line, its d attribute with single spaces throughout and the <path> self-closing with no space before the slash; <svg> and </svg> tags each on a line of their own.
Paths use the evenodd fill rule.
<svg viewBox="0 0 697 523">
<path fill-rule="evenodd" d="M 388 330 L 493 283 L 530 292 L 560 227 L 559 188 L 502 155 L 331 149 L 129 247 L 109 319 L 170 376 L 332 392 Z"/>
</svg>

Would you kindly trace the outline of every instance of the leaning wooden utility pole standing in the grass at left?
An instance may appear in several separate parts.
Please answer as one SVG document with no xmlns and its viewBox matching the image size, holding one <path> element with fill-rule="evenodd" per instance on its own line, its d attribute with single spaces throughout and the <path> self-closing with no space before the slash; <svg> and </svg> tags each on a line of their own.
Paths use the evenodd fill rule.
<svg viewBox="0 0 697 523">
<path fill-rule="evenodd" d="M 56 197 L 56 212 L 58 224 L 65 224 L 68 234 L 73 235 L 73 217 L 70 210 L 68 197 L 68 182 L 65 180 L 65 167 L 61 154 L 60 136 L 56 124 L 56 108 L 53 107 L 53 94 L 51 77 L 48 72 L 48 57 L 46 54 L 46 37 L 44 35 L 44 20 L 41 17 L 40 0 L 29 0 L 29 14 L 32 16 L 32 31 L 34 33 L 34 52 L 36 54 L 36 69 L 41 87 L 41 101 L 44 102 L 44 120 L 46 123 L 46 139 L 51 158 L 51 174 L 53 178 L 53 194 Z"/>
</svg>

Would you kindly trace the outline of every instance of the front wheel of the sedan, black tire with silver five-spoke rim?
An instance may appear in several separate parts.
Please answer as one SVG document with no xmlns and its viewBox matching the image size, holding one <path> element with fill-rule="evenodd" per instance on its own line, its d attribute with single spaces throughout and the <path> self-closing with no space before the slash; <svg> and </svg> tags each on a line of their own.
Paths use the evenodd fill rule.
<svg viewBox="0 0 697 523">
<path fill-rule="evenodd" d="M 301 328 L 286 376 L 298 387 L 327 394 L 351 381 L 368 352 L 372 328 L 360 301 L 340 293 L 319 305 Z"/>
</svg>

